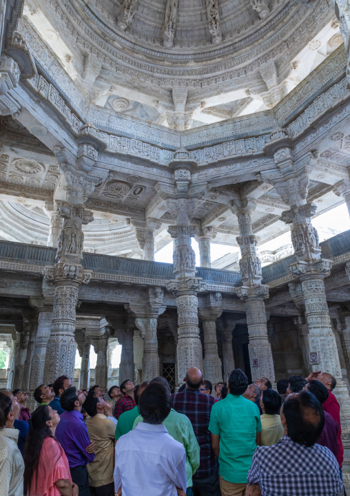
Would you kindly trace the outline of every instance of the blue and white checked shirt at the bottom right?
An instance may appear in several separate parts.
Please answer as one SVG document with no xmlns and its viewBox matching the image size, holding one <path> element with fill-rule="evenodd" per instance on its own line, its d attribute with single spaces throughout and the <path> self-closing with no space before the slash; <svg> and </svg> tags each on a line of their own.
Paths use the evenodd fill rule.
<svg viewBox="0 0 350 496">
<path fill-rule="evenodd" d="M 342 490 L 333 453 L 319 444 L 307 448 L 288 436 L 256 448 L 249 484 L 260 484 L 263 496 L 338 496 Z"/>
</svg>

